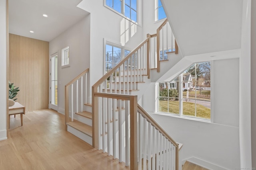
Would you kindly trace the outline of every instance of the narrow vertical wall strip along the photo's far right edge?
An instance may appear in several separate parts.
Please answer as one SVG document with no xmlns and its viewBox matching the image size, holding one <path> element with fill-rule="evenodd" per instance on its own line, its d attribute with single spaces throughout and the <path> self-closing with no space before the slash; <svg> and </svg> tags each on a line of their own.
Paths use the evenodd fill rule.
<svg viewBox="0 0 256 170">
<path fill-rule="evenodd" d="M 251 16 L 251 133 L 252 133 L 252 167 L 256 168 L 256 1 L 252 1 Z"/>
</svg>

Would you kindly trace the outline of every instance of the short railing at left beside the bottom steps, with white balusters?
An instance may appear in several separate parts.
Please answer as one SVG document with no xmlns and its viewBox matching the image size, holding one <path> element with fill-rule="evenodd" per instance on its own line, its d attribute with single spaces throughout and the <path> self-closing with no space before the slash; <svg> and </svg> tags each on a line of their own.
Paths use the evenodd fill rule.
<svg viewBox="0 0 256 170">
<path fill-rule="evenodd" d="M 76 76 L 65 86 L 65 130 L 67 130 L 67 125 L 70 121 L 70 111 L 71 111 L 71 121 L 74 119 L 74 113 L 83 111 L 84 103 L 88 103 L 88 72 L 89 68 L 84 70 L 81 74 Z M 76 93 L 74 94 L 74 89 Z M 71 93 L 70 93 L 71 91 Z M 69 96 L 71 95 L 71 96 Z M 71 100 L 71 110 L 69 109 Z M 74 110 L 75 107 L 75 110 Z"/>
</svg>

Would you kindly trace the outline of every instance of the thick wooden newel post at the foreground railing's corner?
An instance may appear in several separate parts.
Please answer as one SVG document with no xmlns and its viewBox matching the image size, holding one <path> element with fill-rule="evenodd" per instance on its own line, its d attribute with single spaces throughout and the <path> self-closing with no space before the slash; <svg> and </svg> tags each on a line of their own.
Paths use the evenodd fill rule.
<svg viewBox="0 0 256 170">
<path fill-rule="evenodd" d="M 130 98 L 130 169 L 138 170 L 138 103 L 137 96 Z"/>
</svg>

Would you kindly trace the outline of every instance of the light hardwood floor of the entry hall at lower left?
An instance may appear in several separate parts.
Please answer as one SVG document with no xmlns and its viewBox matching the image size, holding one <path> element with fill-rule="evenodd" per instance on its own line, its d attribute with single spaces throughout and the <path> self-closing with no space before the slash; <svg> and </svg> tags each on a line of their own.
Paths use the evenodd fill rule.
<svg viewBox="0 0 256 170">
<path fill-rule="evenodd" d="M 9 138 L 0 141 L 0 170 L 122 170 L 112 156 L 64 130 L 64 115 L 51 109 L 11 116 Z"/>
</svg>

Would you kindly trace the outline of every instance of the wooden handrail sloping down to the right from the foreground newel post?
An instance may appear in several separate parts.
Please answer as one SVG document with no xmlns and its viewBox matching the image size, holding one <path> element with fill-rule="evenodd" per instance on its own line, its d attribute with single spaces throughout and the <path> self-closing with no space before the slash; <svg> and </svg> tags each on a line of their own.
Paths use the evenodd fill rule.
<svg viewBox="0 0 256 170">
<path fill-rule="evenodd" d="M 158 123 L 156 123 L 156 121 L 154 121 L 154 119 L 152 119 L 152 117 L 150 117 L 150 115 L 148 115 L 148 113 L 140 106 L 138 105 L 138 111 L 140 112 L 140 114 L 143 115 L 143 117 L 145 117 L 145 119 L 147 119 L 147 121 L 149 121 L 154 127 L 156 127 L 156 129 L 158 129 L 158 131 L 160 131 L 160 133 L 162 133 L 164 135 L 164 137 L 166 137 L 175 147 L 178 148 L 178 143 L 176 143 L 165 131 L 164 129 L 162 129 Z"/>
</svg>

